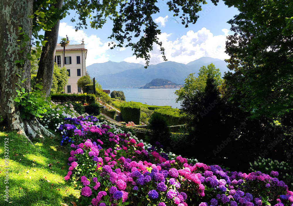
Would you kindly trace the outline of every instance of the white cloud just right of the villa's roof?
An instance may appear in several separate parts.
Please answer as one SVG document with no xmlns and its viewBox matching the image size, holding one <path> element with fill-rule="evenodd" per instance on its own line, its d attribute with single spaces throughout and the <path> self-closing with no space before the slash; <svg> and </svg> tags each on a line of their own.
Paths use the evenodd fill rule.
<svg viewBox="0 0 293 206">
<path fill-rule="evenodd" d="M 108 46 L 110 41 L 102 42 L 96 35 L 88 36 L 84 30 L 75 31 L 73 26 L 66 22 L 61 22 L 59 26 L 59 36 L 66 37 L 68 35 L 70 44 L 81 44 L 84 39 L 85 48 L 88 50 L 86 56 L 86 66 L 93 63 L 107 62 L 109 58 L 105 56 L 105 52 L 110 49 Z M 58 42 L 59 43 L 59 42 Z"/>
</svg>

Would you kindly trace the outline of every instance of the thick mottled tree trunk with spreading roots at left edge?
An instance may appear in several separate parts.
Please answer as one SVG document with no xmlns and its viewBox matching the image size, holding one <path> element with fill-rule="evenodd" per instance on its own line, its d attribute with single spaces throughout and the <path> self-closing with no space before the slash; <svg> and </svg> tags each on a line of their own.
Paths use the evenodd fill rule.
<svg viewBox="0 0 293 206">
<path fill-rule="evenodd" d="M 25 47 L 21 45 L 24 43 L 23 35 L 31 39 L 32 18 L 28 15 L 32 14 L 33 0 L 0 1 L 0 119 L 3 119 L 0 123 L 26 138 L 27 134 L 43 138 L 42 134 L 52 134 L 35 118 L 23 120 L 20 108 L 14 102 L 16 90 L 19 89 L 16 84 L 30 91 L 30 60 L 26 58 L 30 52 L 30 41 L 25 42 Z M 23 60 L 23 63 L 16 63 L 17 60 Z"/>
</svg>

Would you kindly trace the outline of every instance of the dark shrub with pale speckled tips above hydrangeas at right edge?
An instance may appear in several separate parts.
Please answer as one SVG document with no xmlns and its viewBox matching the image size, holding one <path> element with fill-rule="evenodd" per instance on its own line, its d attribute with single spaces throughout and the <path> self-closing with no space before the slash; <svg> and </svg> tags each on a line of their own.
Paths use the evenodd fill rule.
<svg viewBox="0 0 293 206">
<path fill-rule="evenodd" d="M 253 164 L 250 162 L 250 166 L 251 172 L 260 171 L 265 174 L 270 174 L 272 171 L 277 171 L 279 173 L 279 176 L 277 176 L 279 181 L 282 180 L 285 182 L 288 190 L 293 190 L 293 166 L 291 163 L 278 162 L 277 160 L 273 161 L 268 158 L 258 162 L 254 161 Z"/>
</svg>

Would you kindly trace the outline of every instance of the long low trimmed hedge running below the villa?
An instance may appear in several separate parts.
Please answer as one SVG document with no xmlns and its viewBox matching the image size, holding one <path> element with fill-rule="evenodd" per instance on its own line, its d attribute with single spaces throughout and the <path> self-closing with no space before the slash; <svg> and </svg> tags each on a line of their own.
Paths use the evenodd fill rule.
<svg viewBox="0 0 293 206">
<path fill-rule="evenodd" d="M 52 94 L 51 100 L 61 103 L 75 102 L 93 104 L 96 102 L 96 96 L 94 94 Z"/>
</svg>

